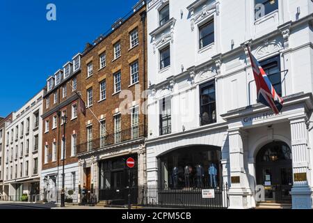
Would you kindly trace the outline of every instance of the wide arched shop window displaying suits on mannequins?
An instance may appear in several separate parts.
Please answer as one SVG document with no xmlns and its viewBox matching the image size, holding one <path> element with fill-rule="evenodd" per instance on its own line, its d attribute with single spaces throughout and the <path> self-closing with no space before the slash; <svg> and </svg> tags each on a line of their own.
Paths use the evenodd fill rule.
<svg viewBox="0 0 313 223">
<path fill-rule="evenodd" d="M 220 148 L 192 146 L 180 148 L 159 157 L 159 182 L 170 188 L 222 185 Z"/>
</svg>

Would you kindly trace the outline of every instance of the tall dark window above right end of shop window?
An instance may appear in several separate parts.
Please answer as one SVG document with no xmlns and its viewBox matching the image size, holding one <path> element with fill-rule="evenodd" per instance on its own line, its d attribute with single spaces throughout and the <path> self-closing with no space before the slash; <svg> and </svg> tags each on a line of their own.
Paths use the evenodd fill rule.
<svg viewBox="0 0 313 223">
<path fill-rule="evenodd" d="M 216 123 L 216 95 L 214 81 L 200 86 L 201 125 Z"/>
</svg>

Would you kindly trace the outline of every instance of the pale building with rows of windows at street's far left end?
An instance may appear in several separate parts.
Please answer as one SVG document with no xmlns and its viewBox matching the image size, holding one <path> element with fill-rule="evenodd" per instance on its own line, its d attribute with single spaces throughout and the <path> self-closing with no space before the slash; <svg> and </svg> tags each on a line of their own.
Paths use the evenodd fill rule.
<svg viewBox="0 0 313 223">
<path fill-rule="evenodd" d="M 42 146 L 42 93 L 13 112 L 6 126 L 4 145 L 3 199 L 18 201 L 27 194 L 39 199 Z"/>
</svg>

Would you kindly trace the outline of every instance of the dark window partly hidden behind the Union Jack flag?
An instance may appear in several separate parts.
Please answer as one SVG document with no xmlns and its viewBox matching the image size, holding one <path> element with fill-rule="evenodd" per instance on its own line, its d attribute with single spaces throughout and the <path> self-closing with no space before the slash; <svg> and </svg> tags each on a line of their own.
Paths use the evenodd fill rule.
<svg viewBox="0 0 313 223">
<path fill-rule="evenodd" d="M 274 56 L 270 59 L 260 62 L 268 79 L 271 81 L 276 93 L 282 96 L 282 77 L 280 72 L 280 56 Z"/>
</svg>

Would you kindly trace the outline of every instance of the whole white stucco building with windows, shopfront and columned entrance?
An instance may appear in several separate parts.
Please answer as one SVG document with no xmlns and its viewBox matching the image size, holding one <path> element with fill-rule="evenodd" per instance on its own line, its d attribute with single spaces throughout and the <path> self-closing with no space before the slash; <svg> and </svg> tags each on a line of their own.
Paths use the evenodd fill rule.
<svg viewBox="0 0 313 223">
<path fill-rule="evenodd" d="M 148 1 L 148 184 L 184 187 L 184 167 L 211 183 L 213 164 L 229 208 L 255 208 L 257 185 L 312 208 L 312 13 L 310 0 Z M 257 103 L 246 44 L 284 98 L 278 115 Z"/>
</svg>

